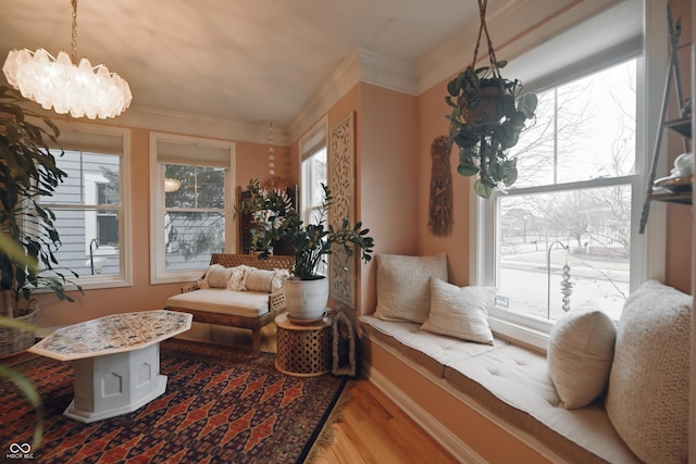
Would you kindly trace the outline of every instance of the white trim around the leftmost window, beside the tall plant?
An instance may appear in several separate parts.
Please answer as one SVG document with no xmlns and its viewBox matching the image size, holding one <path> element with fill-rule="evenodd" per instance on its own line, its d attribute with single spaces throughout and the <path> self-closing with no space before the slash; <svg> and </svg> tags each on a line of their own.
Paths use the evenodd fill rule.
<svg viewBox="0 0 696 464">
<path fill-rule="evenodd" d="M 121 172 L 120 172 L 120 192 L 122 201 L 122 215 L 119 222 L 119 234 L 121 247 L 119 249 L 119 275 L 97 274 L 94 276 L 79 276 L 75 279 L 83 290 L 96 290 L 101 288 L 119 288 L 133 286 L 133 240 L 132 240 L 132 208 L 130 208 L 130 130 L 124 127 L 95 126 L 83 123 L 62 123 L 57 122 L 57 126 L 61 130 L 59 142 L 63 145 L 64 150 L 89 151 L 90 142 L 87 148 L 80 148 L 80 140 L 90 140 L 95 136 L 121 137 L 122 154 L 121 154 Z M 64 141 L 64 140 L 69 141 Z M 95 151 L 99 152 L 99 151 Z M 87 225 L 87 224 L 86 224 Z M 87 228 L 85 229 L 87 233 Z M 85 234 L 85 237 L 87 235 Z"/>
</svg>

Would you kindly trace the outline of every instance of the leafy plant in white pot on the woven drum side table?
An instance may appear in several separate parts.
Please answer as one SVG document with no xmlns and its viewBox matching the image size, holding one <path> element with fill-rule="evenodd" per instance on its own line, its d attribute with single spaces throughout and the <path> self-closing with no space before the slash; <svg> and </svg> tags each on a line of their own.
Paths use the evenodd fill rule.
<svg viewBox="0 0 696 464">
<path fill-rule="evenodd" d="M 343 248 L 351 256 L 352 246 L 356 246 L 361 249 L 365 263 L 372 259 L 374 240 L 368 236 L 370 229 L 362 228 L 362 223 L 350 226 L 345 217 L 338 227 L 326 225 L 333 197 L 326 185 L 322 184 L 322 188 L 324 201 L 316 222 L 304 224 L 300 213 L 282 192 L 262 189 L 257 179 L 247 186 L 251 197 L 244 208 L 262 217 L 258 227 L 251 230 L 251 248 L 259 251 L 259 258 L 265 259 L 273 252 L 274 242 L 285 240 L 295 255 L 293 275 L 285 281 L 285 299 L 288 314 L 296 321 L 313 321 L 323 316 L 328 301 L 328 280 L 318 274 L 318 267 L 335 247 Z"/>
</svg>

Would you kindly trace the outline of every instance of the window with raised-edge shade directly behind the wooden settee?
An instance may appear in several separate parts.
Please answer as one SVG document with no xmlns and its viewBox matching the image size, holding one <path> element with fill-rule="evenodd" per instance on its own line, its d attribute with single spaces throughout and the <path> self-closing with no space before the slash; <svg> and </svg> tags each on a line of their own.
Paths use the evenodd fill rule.
<svg viewBox="0 0 696 464">
<path fill-rule="evenodd" d="M 200 277 L 234 252 L 234 143 L 153 135 L 152 281 Z"/>
</svg>

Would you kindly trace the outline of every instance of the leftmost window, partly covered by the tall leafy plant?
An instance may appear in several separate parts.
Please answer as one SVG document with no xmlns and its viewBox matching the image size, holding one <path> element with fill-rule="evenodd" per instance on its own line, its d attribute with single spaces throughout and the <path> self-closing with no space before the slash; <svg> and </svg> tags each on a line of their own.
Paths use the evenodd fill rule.
<svg viewBox="0 0 696 464">
<path fill-rule="evenodd" d="M 122 188 L 127 185 L 127 135 L 79 125 L 62 128 L 64 154 L 57 164 L 67 177 L 52 197 L 41 198 L 57 215 L 60 266 L 76 272 L 84 288 L 128 284 L 128 209 Z"/>
</svg>

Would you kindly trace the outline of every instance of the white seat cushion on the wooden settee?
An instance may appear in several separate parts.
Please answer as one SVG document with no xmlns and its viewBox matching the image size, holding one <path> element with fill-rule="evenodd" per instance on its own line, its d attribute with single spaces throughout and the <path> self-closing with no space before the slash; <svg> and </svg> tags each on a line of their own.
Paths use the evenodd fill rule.
<svg viewBox="0 0 696 464">
<path fill-rule="evenodd" d="M 167 308 L 259 317 L 269 312 L 269 293 L 203 288 L 166 300 Z"/>
</svg>

